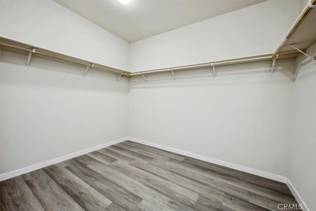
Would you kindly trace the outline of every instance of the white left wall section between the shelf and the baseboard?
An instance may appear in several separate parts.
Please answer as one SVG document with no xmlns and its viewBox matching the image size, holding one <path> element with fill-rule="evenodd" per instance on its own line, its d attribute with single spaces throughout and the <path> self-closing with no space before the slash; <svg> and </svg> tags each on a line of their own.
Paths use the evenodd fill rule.
<svg viewBox="0 0 316 211">
<path fill-rule="evenodd" d="M 127 136 L 128 79 L 1 49 L 1 172 Z M 8 63 L 6 63 L 8 62 Z M 14 64 L 9 64 L 14 63 Z"/>
</svg>

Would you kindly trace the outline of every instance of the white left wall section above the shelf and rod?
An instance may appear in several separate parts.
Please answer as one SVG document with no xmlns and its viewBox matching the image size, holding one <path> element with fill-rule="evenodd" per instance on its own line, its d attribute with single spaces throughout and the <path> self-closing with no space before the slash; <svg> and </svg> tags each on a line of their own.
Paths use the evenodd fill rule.
<svg viewBox="0 0 316 211">
<path fill-rule="evenodd" d="M 128 42 L 52 0 L 0 0 L 0 36 L 129 69 Z"/>
</svg>

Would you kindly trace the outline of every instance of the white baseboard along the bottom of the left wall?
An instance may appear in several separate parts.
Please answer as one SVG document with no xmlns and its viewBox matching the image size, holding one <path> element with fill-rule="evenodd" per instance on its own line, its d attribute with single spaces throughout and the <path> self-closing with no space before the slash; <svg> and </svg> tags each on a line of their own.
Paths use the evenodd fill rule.
<svg viewBox="0 0 316 211">
<path fill-rule="evenodd" d="M 62 161 L 66 161 L 68 159 L 75 158 L 77 156 L 80 156 L 80 155 L 83 155 L 83 154 L 87 154 L 89 152 L 93 152 L 95 150 L 99 150 L 99 149 L 102 149 L 104 147 L 108 147 L 108 146 L 111 146 L 113 144 L 117 144 L 117 143 L 120 143 L 120 142 L 126 141 L 126 140 L 128 140 L 127 137 L 120 138 L 118 140 L 110 141 L 110 142 L 105 143 L 105 144 L 101 144 L 101 145 L 94 146 L 94 147 L 91 147 L 91 148 L 88 148 L 88 149 L 84 149 L 84 150 L 81 150 L 81 151 L 78 151 L 78 152 L 74 152 L 74 153 L 71 153 L 69 155 L 64 155 L 64 156 L 59 157 L 59 158 L 54 158 L 54 159 L 51 159 L 49 161 L 44 161 L 42 163 L 35 164 L 35 165 L 29 166 L 29 167 L 25 167 L 25 168 L 22 168 L 22 169 L 17 169 L 17 170 L 13 170 L 13 171 L 10 171 L 10 172 L 7 172 L 7 173 L 3 173 L 3 174 L 0 174 L 0 181 L 9 179 L 9 178 L 12 178 L 12 177 L 15 177 L 15 176 L 19 176 L 21 174 L 24 174 L 24 173 L 27 173 L 27 172 L 30 172 L 30 171 L 33 171 L 33 170 L 41 169 L 41 168 L 44 168 L 44 167 L 47 167 L 47 166 L 50 166 L 50 165 L 53 165 L 53 164 L 56 164 L 56 163 L 59 163 L 59 162 L 62 162 Z"/>
</svg>

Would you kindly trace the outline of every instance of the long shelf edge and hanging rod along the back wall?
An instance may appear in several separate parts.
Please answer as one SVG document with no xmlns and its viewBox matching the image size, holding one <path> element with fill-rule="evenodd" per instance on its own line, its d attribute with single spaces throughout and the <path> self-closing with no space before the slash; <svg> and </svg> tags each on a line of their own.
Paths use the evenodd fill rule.
<svg viewBox="0 0 316 211">
<path fill-rule="evenodd" d="M 278 58 L 295 57 L 300 54 L 301 53 L 297 51 L 284 52 L 284 53 L 279 53 Z M 138 76 L 138 75 L 145 75 L 145 74 L 164 73 L 164 72 L 169 72 L 169 71 L 192 70 L 192 69 L 197 69 L 197 68 L 208 68 L 208 67 L 213 67 L 213 66 L 224 66 L 224 65 L 257 62 L 257 61 L 267 61 L 267 60 L 272 59 L 272 55 L 273 54 L 265 54 L 265 55 L 230 59 L 230 60 L 217 61 L 217 62 L 208 62 L 208 63 L 196 64 L 196 65 L 187 65 L 187 66 L 181 66 L 181 67 L 141 71 L 141 72 L 130 73 L 128 76 Z"/>
</svg>

